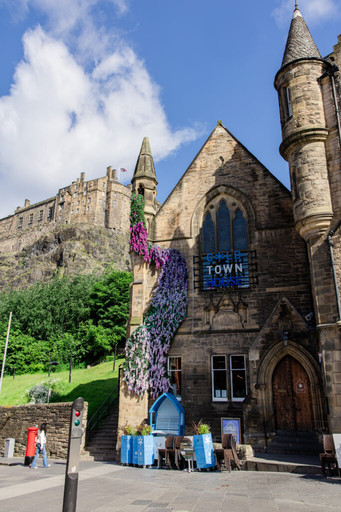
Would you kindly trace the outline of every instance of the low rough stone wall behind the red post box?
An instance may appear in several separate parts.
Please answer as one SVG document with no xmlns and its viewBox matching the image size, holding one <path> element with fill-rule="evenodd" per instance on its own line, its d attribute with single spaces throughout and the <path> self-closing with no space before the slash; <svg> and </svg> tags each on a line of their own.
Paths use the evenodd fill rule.
<svg viewBox="0 0 341 512">
<path fill-rule="evenodd" d="M 5 451 L 8 437 L 14 437 L 14 456 L 22 457 L 26 453 L 27 428 L 46 421 L 48 457 L 66 459 L 69 440 L 70 413 L 72 402 L 64 403 L 27 403 L 22 406 L 0 407 L 0 451 Z M 83 429 L 87 421 L 87 402 L 84 402 Z M 84 447 L 85 436 L 81 448 Z"/>
</svg>

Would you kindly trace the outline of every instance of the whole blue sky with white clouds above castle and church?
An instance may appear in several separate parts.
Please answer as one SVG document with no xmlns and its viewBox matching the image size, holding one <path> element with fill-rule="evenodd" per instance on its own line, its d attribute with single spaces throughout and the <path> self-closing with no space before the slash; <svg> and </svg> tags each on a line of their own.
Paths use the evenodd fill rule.
<svg viewBox="0 0 341 512">
<path fill-rule="evenodd" d="M 323 56 L 336 0 L 299 7 Z M 273 80 L 292 0 L 0 0 L 0 218 L 148 136 L 163 202 L 218 119 L 289 186 Z"/>
</svg>

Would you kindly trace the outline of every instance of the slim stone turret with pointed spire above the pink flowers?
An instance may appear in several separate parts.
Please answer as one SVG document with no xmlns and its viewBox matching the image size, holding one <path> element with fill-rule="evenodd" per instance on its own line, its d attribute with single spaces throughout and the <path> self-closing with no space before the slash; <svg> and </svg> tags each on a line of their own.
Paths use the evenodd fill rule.
<svg viewBox="0 0 341 512">
<path fill-rule="evenodd" d="M 152 233 L 152 220 L 157 211 L 156 206 L 156 174 L 149 139 L 142 142 L 140 155 L 131 180 L 133 194 L 141 194 L 145 198 L 145 218 L 149 236 Z"/>
</svg>

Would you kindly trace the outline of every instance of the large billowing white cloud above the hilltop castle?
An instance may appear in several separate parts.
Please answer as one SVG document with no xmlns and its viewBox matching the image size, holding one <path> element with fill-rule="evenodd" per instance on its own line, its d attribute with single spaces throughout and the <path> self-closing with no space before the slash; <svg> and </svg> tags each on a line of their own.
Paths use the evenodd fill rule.
<svg viewBox="0 0 341 512">
<path fill-rule="evenodd" d="M 0 217 L 25 198 L 54 195 L 83 171 L 91 179 L 108 165 L 125 167 L 128 182 L 144 136 L 155 160 L 198 136 L 171 129 L 157 84 L 128 46 L 87 73 L 39 26 L 23 43 L 10 94 L 0 98 Z"/>
</svg>

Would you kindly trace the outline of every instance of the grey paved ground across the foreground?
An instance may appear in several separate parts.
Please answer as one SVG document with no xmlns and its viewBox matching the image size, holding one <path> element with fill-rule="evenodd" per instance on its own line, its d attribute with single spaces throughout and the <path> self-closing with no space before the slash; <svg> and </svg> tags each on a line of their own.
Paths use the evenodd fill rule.
<svg viewBox="0 0 341 512">
<path fill-rule="evenodd" d="M 16 459 L 21 461 L 22 459 Z M 0 465 L 2 512 L 62 510 L 65 461 Z M 77 512 L 341 512 L 341 479 L 224 471 L 184 473 L 80 462 Z"/>
</svg>

